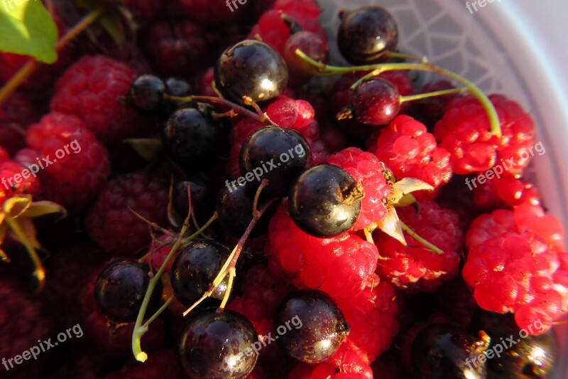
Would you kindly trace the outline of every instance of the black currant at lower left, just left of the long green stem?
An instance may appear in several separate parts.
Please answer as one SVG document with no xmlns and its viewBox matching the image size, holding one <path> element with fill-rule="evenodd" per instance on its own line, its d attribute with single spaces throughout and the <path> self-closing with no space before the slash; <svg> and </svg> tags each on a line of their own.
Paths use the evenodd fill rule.
<svg viewBox="0 0 568 379">
<path fill-rule="evenodd" d="M 148 265 L 121 259 L 104 267 L 94 284 L 94 297 L 102 313 L 116 322 L 133 322 L 142 305 L 150 277 Z M 160 302 L 161 286 L 154 289 L 148 312 Z"/>
</svg>

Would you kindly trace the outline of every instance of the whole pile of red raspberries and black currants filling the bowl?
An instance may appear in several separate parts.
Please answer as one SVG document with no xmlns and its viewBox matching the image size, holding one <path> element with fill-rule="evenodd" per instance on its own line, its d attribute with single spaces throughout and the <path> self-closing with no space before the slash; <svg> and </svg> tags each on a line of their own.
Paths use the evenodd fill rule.
<svg viewBox="0 0 568 379">
<path fill-rule="evenodd" d="M 29 4 L 58 58 L 0 43 L 0 378 L 552 375 L 535 125 L 387 9 L 339 15 L 339 67 L 315 0 Z"/>
</svg>

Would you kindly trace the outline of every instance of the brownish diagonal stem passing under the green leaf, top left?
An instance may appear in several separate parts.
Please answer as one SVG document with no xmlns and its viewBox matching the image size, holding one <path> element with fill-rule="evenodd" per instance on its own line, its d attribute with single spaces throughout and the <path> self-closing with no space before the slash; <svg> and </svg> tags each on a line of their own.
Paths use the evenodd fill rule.
<svg viewBox="0 0 568 379">
<path fill-rule="evenodd" d="M 65 33 L 65 35 L 60 38 L 58 43 L 55 45 L 55 51 L 61 50 L 67 44 L 67 42 L 71 41 L 73 38 L 79 35 L 82 31 L 84 31 L 84 29 L 86 29 L 89 25 L 94 23 L 94 21 L 97 21 L 97 18 L 99 18 L 101 14 L 102 11 L 100 9 L 97 9 L 96 11 L 92 11 L 90 14 L 87 14 L 87 16 L 85 16 L 82 19 L 82 21 L 77 23 L 77 25 L 73 26 L 73 28 L 67 31 L 67 33 Z M 26 64 L 24 64 L 20 68 L 20 70 L 18 70 L 18 72 L 15 75 L 13 75 L 13 77 L 8 82 L 6 82 L 4 87 L 0 89 L 0 106 L 4 104 L 4 102 L 12 94 L 12 92 L 17 90 L 18 87 L 24 81 L 26 81 L 26 79 L 28 79 L 30 75 L 32 75 L 35 72 L 35 70 L 37 70 L 40 67 L 40 65 L 42 65 L 42 63 L 39 63 L 37 60 L 33 58 L 30 58 L 26 62 Z"/>
</svg>

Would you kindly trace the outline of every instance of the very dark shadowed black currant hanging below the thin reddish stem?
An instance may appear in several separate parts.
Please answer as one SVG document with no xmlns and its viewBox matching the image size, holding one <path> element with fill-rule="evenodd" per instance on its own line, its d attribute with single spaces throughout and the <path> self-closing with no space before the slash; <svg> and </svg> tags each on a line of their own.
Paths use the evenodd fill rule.
<svg viewBox="0 0 568 379">
<path fill-rule="evenodd" d="M 213 166 L 223 152 L 224 127 L 211 112 L 209 105 L 198 104 L 176 111 L 165 123 L 165 150 L 184 169 Z"/>
</svg>

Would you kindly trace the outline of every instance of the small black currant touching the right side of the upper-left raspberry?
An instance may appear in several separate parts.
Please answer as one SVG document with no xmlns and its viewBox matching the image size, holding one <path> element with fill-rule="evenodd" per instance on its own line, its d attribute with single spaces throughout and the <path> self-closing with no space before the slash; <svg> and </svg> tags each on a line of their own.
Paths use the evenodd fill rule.
<svg viewBox="0 0 568 379">
<path fill-rule="evenodd" d="M 166 87 L 160 78 L 154 75 L 141 75 L 134 79 L 126 102 L 138 113 L 153 115 L 164 105 Z"/>
</svg>

